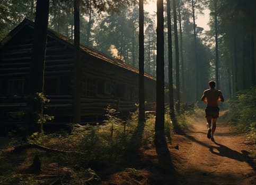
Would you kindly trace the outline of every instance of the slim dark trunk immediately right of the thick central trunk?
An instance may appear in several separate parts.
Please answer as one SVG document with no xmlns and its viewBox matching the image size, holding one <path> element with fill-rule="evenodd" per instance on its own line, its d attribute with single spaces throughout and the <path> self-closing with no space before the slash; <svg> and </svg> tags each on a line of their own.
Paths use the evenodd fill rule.
<svg viewBox="0 0 256 185">
<path fill-rule="evenodd" d="M 173 72 L 172 72 L 172 26 L 171 26 L 171 4 L 170 0 L 166 0 L 167 4 L 167 32 L 168 32 L 168 75 L 169 75 L 169 106 L 171 119 L 175 119 L 174 100 L 173 100 Z"/>
</svg>

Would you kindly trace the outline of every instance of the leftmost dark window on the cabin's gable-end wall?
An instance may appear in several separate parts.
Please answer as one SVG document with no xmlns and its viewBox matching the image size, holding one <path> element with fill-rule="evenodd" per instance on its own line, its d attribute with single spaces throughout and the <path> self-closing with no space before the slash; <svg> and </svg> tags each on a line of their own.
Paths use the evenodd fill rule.
<svg viewBox="0 0 256 185">
<path fill-rule="evenodd" d="M 24 79 L 8 80 L 8 95 L 22 95 L 24 90 Z"/>
</svg>

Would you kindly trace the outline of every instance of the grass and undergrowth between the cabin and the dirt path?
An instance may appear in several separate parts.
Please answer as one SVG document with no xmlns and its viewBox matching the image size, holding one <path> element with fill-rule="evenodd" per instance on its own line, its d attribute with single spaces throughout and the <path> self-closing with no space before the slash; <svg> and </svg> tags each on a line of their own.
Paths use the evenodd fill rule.
<svg viewBox="0 0 256 185">
<path fill-rule="evenodd" d="M 34 133 L 27 138 L 27 143 L 75 151 L 76 154 L 46 152 L 38 149 L 25 149 L 15 153 L 13 147 L 24 142 L 13 134 L 10 137 L 13 140 L 8 148 L 0 152 L 0 184 L 50 184 L 56 178 L 60 184 L 97 184 L 102 179 L 108 178 L 110 173 L 121 170 L 119 168 L 137 170 L 137 167 L 127 162 L 125 154 L 128 149 L 134 149 L 137 146 L 145 149 L 148 146 L 154 146 L 155 115 L 148 114 L 143 132 L 135 134 L 138 129 L 138 111 L 131 113 L 126 121 L 119 119 L 116 110 L 110 107 L 107 114 L 108 119 L 104 124 L 96 126 L 75 124 L 71 133 Z M 186 112 L 186 114 L 177 115 L 177 123 L 182 129 L 186 128 L 184 119 L 187 119 L 190 114 Z M 170 120 L 170 116 L 166 114 L 166 140 L 171 140 L 174 133 L 173 123 Z M 29 170 L 36 154 L 41 160 L 40 174 L 33 174 Z M 138 160 L 138 155 L 129 157 L 130 161 Z"/>
</svg>

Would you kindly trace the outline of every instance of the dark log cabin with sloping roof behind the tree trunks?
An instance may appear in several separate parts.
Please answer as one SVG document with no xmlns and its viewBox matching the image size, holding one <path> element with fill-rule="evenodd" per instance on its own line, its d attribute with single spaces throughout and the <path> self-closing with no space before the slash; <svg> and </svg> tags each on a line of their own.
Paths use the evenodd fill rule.
<svg viewBox="0 0 256 185">
<path fill-rule="evenodd" d="M 23 20 L 0 42 L 0 114 L 4 124 L 24 121 L 29 94 L 34 23 Z M 92 48 L 80 45 L 81 122 L 101 121 L 110 105 L 122 114 L 136 110 L 138 69 Z M 46 113 L 56 123 L 72 123 L 74 44 L 48 29 L 45 61 Z M 145 74 L 146 110 L 152 110 L 156 79 Z"/>
</svg>

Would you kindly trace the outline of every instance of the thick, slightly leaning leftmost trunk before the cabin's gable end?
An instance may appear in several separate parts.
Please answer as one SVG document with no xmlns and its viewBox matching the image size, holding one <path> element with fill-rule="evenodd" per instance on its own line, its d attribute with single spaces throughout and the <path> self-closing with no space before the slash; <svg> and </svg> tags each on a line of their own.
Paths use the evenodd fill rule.
<svg viewBox="0 0 256 185">
<path fill-rule="evenodd" d="M 36 7 L 36 18 L 34 21 L 34 41 L 32 48 L 32 57 L 30 64 L 30 94 L 35 95 L 36 92 L 44 92 L 45 86 L 45 58 L 46 58 L 46 44 L 47 44 L 47 29 L 49 17 L 49 0 L 38 0 Z M 34 109 L 33 102 L 29 100 L 28 107 Z M 37 110 L 34 110 L 37 111 Z M 40 110 L 41 116 L 43 115 L 43 103 L 41 103 Z M 38 120 L 34 113 L 30 113 L 29 129 L 30 133 L 43 131 L 43 125 L 40 128 L 36 123 Z"/>
</svg>

